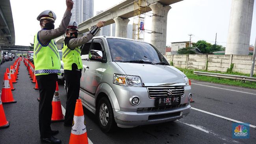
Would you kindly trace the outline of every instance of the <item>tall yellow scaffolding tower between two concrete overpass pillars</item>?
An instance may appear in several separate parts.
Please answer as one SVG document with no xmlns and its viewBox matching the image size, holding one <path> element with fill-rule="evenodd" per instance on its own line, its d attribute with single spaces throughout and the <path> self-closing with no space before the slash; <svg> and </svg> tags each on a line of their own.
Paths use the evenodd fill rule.
<svg viewBox="0 0 256 144">
<path fill-rule="evenodd" d="M 134 24 L 132 38 L 139 41 L 144 41 L 145 6 L 146 0 L 134 0 Z"/>
</svg>

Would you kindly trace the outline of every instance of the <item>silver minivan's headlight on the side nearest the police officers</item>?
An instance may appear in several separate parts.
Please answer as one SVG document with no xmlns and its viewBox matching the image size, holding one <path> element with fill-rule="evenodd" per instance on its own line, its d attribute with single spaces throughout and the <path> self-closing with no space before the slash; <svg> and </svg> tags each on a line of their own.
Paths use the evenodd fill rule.
<svg viewBox="0 0 256 144">
<path fill-rule="evenodd" d="M 141 78 L 139 76 L 114 74 L 113 83 L 130 87 L 142 87 Z"/>
</svg>

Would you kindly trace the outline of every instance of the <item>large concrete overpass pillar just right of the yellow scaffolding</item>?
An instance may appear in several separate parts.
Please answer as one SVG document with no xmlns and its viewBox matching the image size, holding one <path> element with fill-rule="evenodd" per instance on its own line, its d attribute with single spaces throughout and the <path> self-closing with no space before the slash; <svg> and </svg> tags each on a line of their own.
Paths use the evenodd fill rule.
<svg viewBox="0 0 256 144">
<path fill-rule="evenodd" d="M 171 6 L 163 6 L 159 2 L 149 6 L 154 14 L 152 17 L 151 44 L 153 44 L 163 55 L 166 47 L 167 15 Z"/>
</svg>

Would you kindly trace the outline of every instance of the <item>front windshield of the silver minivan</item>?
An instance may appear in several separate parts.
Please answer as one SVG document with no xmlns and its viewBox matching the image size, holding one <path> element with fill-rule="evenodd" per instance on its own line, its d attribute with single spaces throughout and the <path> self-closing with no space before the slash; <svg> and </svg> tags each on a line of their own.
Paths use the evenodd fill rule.
<svg viewBox="0 0 256 144">
<path fill-rule="evenodd" d="M 169 65 L 152 45 L 127 39 L 108 38 L 112 61 Z"/>
</svg>

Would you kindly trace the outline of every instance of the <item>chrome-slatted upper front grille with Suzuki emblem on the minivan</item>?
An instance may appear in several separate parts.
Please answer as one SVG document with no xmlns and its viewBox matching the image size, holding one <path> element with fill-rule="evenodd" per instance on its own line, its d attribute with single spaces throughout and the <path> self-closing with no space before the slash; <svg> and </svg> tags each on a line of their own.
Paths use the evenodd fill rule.
<svg viewBox="0 0 256 144">
<path fill-rule="evenodd" d="M 150 98 L 161 98 L 167 96 L 183 96 L 184 86 L 173 87 L 148 87 L 148 94 Z"/>
</svg>

